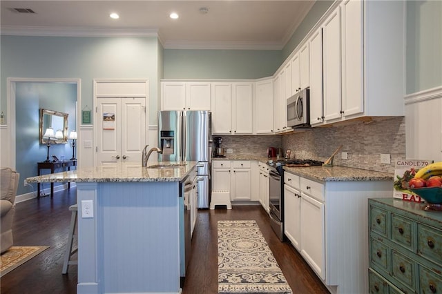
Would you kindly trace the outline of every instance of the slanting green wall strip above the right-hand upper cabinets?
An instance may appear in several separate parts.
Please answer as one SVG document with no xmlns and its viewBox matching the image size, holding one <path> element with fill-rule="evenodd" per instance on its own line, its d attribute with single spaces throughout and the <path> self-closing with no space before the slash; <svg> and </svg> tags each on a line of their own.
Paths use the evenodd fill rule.
<svg viewBox="0 0 442 294">
<path fill-rule="evenodd" d="M 325 14 L 327 9 L 332 6 L 334 0 L 320 0 L 314 3 L 314 6 L 311 7 L 310 11 L 305 16 L 305 19 L 300 23 L 298 28 L 291 38 L 285 44 L 284 48 L 282 48 L 282 61 L 287 59 L 291 52 L 299 45 L 299 43 L 304 39 L 304 37 L 309 33 L 311 28 L 313 28 L 318 20 Z"/>
</svg>

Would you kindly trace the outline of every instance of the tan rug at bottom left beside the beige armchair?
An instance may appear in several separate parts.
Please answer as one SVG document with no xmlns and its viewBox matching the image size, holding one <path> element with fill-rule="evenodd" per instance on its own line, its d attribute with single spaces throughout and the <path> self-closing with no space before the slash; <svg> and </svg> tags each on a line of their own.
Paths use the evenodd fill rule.
<svg viewBox="0 0 442 294">
<path fill-rule="evenodd" d="M 49 246 L 12 246 L 0 258 L 0 277 L 21 266 L 32 257 L 48 249 Z"/>
</svg>

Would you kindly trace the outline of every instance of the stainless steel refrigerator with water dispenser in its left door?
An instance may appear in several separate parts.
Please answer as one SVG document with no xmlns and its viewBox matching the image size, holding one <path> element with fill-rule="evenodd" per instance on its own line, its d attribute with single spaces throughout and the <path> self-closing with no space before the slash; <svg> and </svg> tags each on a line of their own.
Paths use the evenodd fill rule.
<svg viewBox="0 0 442 294">
<path fill-rule="evenodd" d="M 198 161 L 198 208 L 209 208 L 211 112 L 159 111 L 158 161 Z"/>
</svg>

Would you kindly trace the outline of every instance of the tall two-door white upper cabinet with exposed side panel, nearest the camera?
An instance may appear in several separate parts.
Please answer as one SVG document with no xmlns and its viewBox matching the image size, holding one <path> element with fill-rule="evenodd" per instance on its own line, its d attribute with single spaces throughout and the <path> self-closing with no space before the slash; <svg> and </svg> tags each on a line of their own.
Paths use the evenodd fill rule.
<svg viewBox="0 0 442 294">
<path fill-rule="evenodd" d="M 325 19 L 325 124 L 404 115 L 404 16 L 404 1 L 345 0 Z"/>
</svg>

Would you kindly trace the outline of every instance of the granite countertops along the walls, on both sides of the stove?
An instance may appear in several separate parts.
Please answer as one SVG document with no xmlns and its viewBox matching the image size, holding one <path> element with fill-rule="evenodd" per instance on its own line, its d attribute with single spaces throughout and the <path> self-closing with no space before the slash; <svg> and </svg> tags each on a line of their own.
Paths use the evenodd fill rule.
<svg viewBox="0 0 442 294">
<path fill-rule="evenodd" d="M 257 160 L 267 163 L 269 159 L 276 161 L 276 158 L 267 158 L 253 155 L 227 155 L 226 157 L 214 157 L 213 160 Z M 392 173 L 378 172 L 374 170 L 363 170 L 361 168 L 350 168 L 347 166 L 308 166 L 289 168 L 284 170 L 300 177 L 315 179 L 320 182 L 347 182 L 347 181 L 393 181 Z"/>
</svg>

